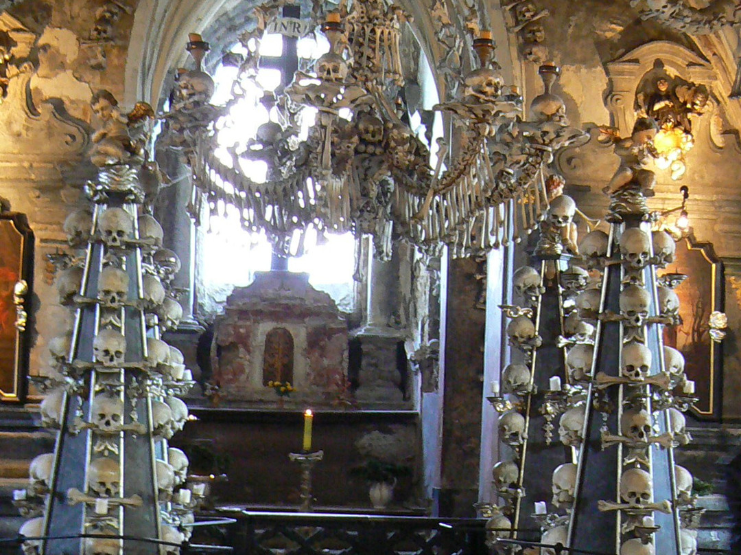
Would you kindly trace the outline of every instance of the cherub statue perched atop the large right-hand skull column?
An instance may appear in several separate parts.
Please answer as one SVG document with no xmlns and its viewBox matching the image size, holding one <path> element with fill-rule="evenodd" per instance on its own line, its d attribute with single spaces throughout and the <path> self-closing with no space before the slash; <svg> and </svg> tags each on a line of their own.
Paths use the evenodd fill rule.
<svg viewBox="0 0 741 555">
<path fill-rule="evenodd" d="M 605 193 L 613 194 L 631 182 L 638 183 L 642 191 L 653 191 L 656 176 L 653 171 L 645 169 L 644 166 L 654 156 L 652 140 L 657 131 L 659 128 L 653 119 L 642 117 L 633 126 L 630 137 L 624 139 L 612 137 L 615 142 L 615 154 L 620 157 L 620 165 L 610 183 L 603 189 Z M 605 130 L 602 132 L 606 133 Z"/>
</svg>

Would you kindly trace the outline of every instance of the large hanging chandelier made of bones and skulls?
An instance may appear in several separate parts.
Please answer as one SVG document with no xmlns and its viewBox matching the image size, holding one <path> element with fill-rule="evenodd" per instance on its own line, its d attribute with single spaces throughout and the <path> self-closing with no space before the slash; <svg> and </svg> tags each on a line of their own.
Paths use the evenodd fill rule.
<svg viewBox="0 0 741 555">
<path fill-rule="evenodd" d="M 199 68 L 182 70 L 167 141 L 185 148 L 193 168 L 196 218 L 204 203 L 211 215 L 238 214 L 245 229 L 264 229 L 285 252 L 291 237 L 310 226 L 319 233 L 373 234 L 382 258 L 391 255 L 392 236 L 425 250 L 445 243 L 453 256 L 468 256 L 519 241 L 536 227 L 548 208 L 546 167 L 554 152 L 586 138 L 568 126 L 562 99 L 550 91 L 558 68 L 540 68 L 545 92 L 523 121 L 522 98 L 497 73 L 491 33 L 457 37 L 456 55 L 438 68 L 454 94 L 434 106 L 446 131 L 431 141 L 437 146 L 431 156 L 408 125 L 400 53 L 408 15 L 381 0 L 342 2 L 325 17 L 314 11 L 308 24 L 296 27 L 310 32 L 319 26 L 330 51 L 313 71 L 296 72 L 279 95 L 266 93 L 270 122 L 256 138 L 221 148 L 219 156 L 214 126 L 202 125 L 213 116 L 213 82 L 200 70 L 207 45 L 191 37 L 198 39 L 189 50 Z M 227 110 L 245 97 L 247 83 L 259 86 L 260 42 L 266 29 L 279 27 L 279 4 L 257 13 L 256 29 L 239 37 L 247 56 Z M 439 10 L 434 16 L 448 17 Z M 316 123 L 302 135 L 310 112 Z M 267 165 L 264 183 L 244 171 L 249 160 Z"/>
</svg>

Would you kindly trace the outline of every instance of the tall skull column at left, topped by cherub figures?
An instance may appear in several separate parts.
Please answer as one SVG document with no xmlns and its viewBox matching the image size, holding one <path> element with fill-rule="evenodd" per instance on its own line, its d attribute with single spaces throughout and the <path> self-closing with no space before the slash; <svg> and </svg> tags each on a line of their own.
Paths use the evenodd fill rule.
<svg viewBox="0 0 741 555">
<path fill-rule="evenodd" d="M 187 420 L 175 395 L 192 381 L 182 354 L 159 340 L 182 309 L 170 294 L 179 260 L 142 210 L 159 188 L 156 165 L 144 158 L 153 111 L 142 102 L 122 114 L 107 91 L 92 106 L 98 178 L 85 188 L 91 206 L 64 223 L 73 254 L 59 260 L 66 267 L 56 284 L 73 327 L 49 342 L 41 420 L 58 432 L 54 453 L 34 459 L 19 502 L 32 517 L 21 527 L 23 548 L 176 555 L 193 496 L 173 496 L 187 458 L 168 450 L 167 439 Z"/>
</svg>

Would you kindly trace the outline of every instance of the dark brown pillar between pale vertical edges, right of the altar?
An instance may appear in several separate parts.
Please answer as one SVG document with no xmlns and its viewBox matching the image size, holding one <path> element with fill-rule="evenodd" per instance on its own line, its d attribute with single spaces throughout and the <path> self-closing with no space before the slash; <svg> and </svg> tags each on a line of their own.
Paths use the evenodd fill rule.
<svg viewBox="0 0 741 555">
<path fill-rule="evenodd" d="M 440 516 L 474 516 L 479 497 L 486 312 L 476 308 L 479 264 L 450 260 L 442 323 Z"/>
</svg>

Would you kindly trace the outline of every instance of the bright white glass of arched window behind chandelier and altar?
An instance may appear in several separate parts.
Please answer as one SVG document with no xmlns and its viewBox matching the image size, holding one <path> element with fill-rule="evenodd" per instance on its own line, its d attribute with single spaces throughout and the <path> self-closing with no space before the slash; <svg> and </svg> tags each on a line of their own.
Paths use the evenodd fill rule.
<svg viewBox="0 0 741 555">
<path fill-rule="evenodd" d="M 290 39 L 276 33 L 265 36 L 260 45 L 261 67 L 258 81 L 265 91 L 279 91 L 293 79 L 296 68 L 305 69 L 328 50 L 323 36 Z M 234 45 L 214 74 L 216 93 L 213 104 L 229 103 L 230 109 L 219 120 L 219 151 L 239 151 L 256 137 L 258 128 L 270 120 L 270 111 L 260 101 L 263 94 L 249 82 L 239 83 L 241 97 L 233 99 L 236 67 L 230 60 L 245 54 L 245 47 Z M 305 121 L 306 129 L 313 125 Z M 242 170 L 256 182 L 265 180 L 266 166 L 261 160 L 240 160 Z M 309 202 L 309 200 L 308 200 Z M 247 286 L 255 272 L 270 269 L 288 269 L 289 272 L 306 272 L 309 282 L 316 289 L 327 292 L 342 312 L 356 309 L 357 294 L 353 274 L 356 272 L 360 246 L 349 232 L 325 233 L 309 227 L 303 237 L 294 234 L 290 241 L 287 268 L 276 267 L 274 247 L 265 231 L 245 229 L 233 206 L 218 206 L 218 214 L 205 219 L 205 226 L 196 238 L 196 287 L 199 291 L 199 312 L 202 315 L 220 312 L 227 295 L 235 286 Z"/>
</svg>

